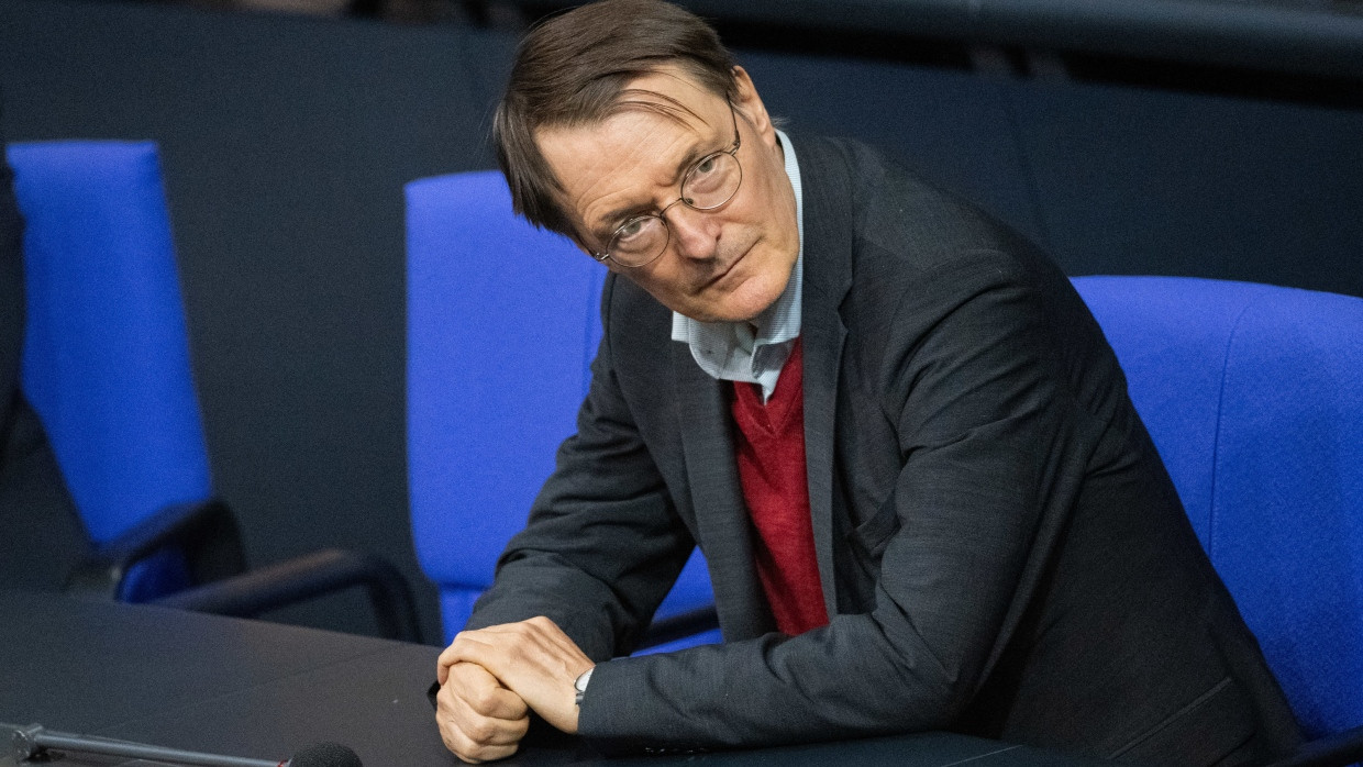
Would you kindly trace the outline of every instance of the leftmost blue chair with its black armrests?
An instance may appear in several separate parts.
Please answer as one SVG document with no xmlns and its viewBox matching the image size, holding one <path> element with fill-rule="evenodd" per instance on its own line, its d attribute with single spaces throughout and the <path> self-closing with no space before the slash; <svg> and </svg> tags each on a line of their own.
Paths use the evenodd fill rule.
<svg viewBox="0 0 1363 767">
<path fill-rule="evenodd" d="M 406 583 L 375 557 L 244 572 L 213 496 L 155 144 L 18 143 L 7 157 L 26 222 L 20 387 L 94 549 L 68 589 L 258 614 L 363 586 L 380 632 L 418 639 Z"/>
</svg>

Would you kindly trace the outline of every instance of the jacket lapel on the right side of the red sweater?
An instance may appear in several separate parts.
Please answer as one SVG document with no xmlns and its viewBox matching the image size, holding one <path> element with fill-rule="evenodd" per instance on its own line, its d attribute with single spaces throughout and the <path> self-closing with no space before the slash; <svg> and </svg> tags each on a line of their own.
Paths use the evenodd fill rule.
<svg viewBox="0 0 1363 767">
<path fill-rule="evenodd" d="M 837 614 L 834 580 L 833 455 L 838 373 L 846 327 L 838 308 L 852 286 L 852 211 L 846 168 L 816 142 L 792 142 L 800 161 L 804 204 L 804 467 L 810 485 L 814 550 L 829 617 Z"/>
</svg>

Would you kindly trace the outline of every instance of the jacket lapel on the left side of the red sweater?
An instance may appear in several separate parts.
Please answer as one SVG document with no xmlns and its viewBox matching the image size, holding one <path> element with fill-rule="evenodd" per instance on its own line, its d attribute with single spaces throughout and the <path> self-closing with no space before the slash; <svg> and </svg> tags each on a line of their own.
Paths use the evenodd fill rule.
<svg viewBox="0 0 1363 767">
<path fill-rule="evenodd" d="M 728 381 L 707 376 L 684 343 L 672 343 L 677 431 L 686 456 L 687 484 L 699 538 L 710 568 L 716 608 L 725 640 L 750 639 L 774 631 L 752 561 L 752 535 L 743 488 L 733 460 Z"/>
</svg>

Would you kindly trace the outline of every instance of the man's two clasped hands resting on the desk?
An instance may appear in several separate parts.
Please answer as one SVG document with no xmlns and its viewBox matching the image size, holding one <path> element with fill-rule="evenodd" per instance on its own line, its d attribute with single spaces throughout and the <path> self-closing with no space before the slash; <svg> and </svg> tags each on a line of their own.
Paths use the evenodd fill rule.
<svg viewBox="0 0 1363 767">
<path fill-rule="evenodd" d="M 444 745 L 470 763 L 511 756 L 532 710 L 577 733 L 572 683 L 592 666 L 547 617 L 461 631 L 436 662 L 436 722 Z"/>
</svg>

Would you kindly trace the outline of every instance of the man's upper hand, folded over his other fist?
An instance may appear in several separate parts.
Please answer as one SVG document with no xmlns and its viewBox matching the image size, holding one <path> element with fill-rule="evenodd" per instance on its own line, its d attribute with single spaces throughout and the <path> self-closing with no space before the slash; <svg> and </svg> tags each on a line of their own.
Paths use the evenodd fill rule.
<svg viewBox="0 0 1363 767">
<path fill-rule="evenodd" d="M 457 633 L 440 653 L 438 676 L 442 692 L 448 687 L 444 685 L 446 674 L 466 663 L 487 669 L 555 727 L 566 733 L 578 732 L 572 683 L 594 663 L 549 619 L 534 617 Z"/>
</svg>

